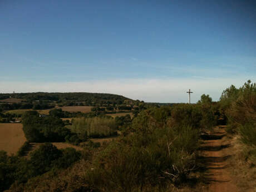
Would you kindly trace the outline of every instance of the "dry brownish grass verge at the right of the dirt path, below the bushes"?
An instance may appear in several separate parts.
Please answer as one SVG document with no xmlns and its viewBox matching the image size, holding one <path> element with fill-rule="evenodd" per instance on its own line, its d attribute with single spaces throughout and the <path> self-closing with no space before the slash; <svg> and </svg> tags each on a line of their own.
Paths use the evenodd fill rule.
<svg viewBox="0 0 256 192">
<path fill-rule="evenodd" d="M 232 137 L 233 156 L 229 159 L 229 171 L 232 179 L 240 191 L 256 191 L 256 167 L 249 160 L 245 160 L 245 152 L 248 147 L 242 144 L 239 136 Z"/>
</svg>

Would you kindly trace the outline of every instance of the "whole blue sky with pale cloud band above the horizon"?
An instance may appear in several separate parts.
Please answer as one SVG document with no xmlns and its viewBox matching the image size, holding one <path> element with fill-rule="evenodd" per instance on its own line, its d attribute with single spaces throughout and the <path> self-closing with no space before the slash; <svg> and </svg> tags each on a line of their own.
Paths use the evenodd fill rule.
<svg viewBox="0 0 256 192">
<path fill-rule="evenodd" d="M 0 0 L 0 93 L 218 101 L 256 80 L 255 1 Z"/>
</svg>

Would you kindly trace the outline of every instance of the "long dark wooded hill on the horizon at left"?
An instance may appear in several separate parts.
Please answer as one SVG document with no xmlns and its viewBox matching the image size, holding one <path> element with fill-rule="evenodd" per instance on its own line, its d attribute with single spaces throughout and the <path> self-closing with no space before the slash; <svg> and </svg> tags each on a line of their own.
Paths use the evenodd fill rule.
<svg viewBox="0 0 256 192">
<path fill-rule="evenodd" d="M 3 106 L 3 105 L 14 106 Z M 33 107 L 35 104 L 41 107 Z M 2 110 L 13 109 L 50 109 L 58 106 L 109 106 L 109 105 L 136 104 L 134 100 L 127 97 L 109 93 L 87 93 L 87 92 L 68 92 L 68 93 L 0 93 L 0 105 Z"/>
</svg>

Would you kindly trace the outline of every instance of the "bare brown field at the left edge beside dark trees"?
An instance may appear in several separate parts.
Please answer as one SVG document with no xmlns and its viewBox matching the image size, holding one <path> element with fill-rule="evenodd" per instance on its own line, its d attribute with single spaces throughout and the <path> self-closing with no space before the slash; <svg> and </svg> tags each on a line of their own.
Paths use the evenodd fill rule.
<svg viewBox="0 0 256 192">
<path fill-rule="evenodd" d="M 0 150 L 16 154 L 25 141 L 22 124 L 0 124 Z"/>
</svg>

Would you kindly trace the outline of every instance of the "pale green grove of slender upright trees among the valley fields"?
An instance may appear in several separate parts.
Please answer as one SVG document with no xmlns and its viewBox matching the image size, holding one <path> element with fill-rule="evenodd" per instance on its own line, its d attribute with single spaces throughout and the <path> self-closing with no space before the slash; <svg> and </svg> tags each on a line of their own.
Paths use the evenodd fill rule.
<svg viewBox="0 0 256 192">
<path fill-rule="evenodd" d="M 117 124 L 112 117 L 80 118 L 72 122 L 71 130 L 81 138 L 106 137 L 116 134 Z"/>
</svg>

